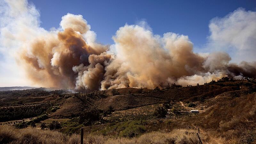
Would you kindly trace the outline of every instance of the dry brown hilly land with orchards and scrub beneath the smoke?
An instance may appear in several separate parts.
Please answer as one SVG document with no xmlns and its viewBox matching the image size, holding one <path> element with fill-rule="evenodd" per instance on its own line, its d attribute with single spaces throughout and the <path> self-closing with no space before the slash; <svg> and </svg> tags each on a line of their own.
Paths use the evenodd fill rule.
<svg viewBox="0 0 256 144">
<path fill-rule="evenodd" d="M 196 127 L 200 128 L 203 143 L 254 143 L 255 92 L 253 79 L 221 79 L 187 87 L 172 84 L 154 90 L 7 91 L 0 94 L 0 124 L 17 127 L 36 122 L 36 128 L 46 124 L 48 129 L 58 121 L 60 127 L 54 129 L 64 133 L 65 140 L 84 127 L 84 139 L 89 143 L 143 143 L 139 142 L 143 139 L 149 143 L 198 143 Z M 199 113 L 192 114 L 190 110 Z M 160 135 L 163 141 L 150 138 Z M 79 140 L 79 136 L 75 137 Z M 102 142 L 95 141 L 96 137 Z"/>
</svg>

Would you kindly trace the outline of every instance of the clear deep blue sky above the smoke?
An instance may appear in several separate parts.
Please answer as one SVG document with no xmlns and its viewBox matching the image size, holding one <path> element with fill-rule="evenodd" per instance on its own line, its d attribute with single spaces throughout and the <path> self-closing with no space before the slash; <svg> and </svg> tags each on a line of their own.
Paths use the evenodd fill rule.
<svg viewBox="0 0 256 144">
<path fill-rule="evenodd" d="M 219 1 L 156 1 L 156 0 L 29 0 L 40 11 L 41 27 L 58 28 L 67 13 L 81 14 L 97 33 L 97 41 L 113 44 L 112 36 L 118 28 L 146 20 L 154 34 L 166 32 L 188 35 L 195 47 L 201 47 L 209 36 L 209 21 L 224 17 L 239 7 L 255 11 L 253 0 Z"/>
</svg>

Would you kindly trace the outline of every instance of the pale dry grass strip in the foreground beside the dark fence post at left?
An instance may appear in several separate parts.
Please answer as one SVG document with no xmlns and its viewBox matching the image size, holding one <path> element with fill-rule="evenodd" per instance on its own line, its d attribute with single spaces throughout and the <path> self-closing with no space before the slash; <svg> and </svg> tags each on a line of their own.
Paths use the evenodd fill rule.
<svg viewBox="0 0 256 144">
<path fill-rule="evenodd" d="M 43 131 L 33 128 L 15 129 L 12 126 L 0 126 L 0 143 L 3 144 L 79 144 L 80 136 L 66 134 L 56 131 Z M 172 132 L 150 132 L 140 137 L 129 138 L 109 138 L 102 135 L 89 134 L 84 137 L 84 143 L 94 144 L 194 144 L 199 143 L 195 131 L 185 129 L 175 129 Z"/>
</svg>

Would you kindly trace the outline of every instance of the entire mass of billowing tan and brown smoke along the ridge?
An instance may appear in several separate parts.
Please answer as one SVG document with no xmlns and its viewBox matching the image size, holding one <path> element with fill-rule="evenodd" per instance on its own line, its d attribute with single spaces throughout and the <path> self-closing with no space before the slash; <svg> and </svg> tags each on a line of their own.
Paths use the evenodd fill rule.
<svg viewBox="0 0 256 144">
<path fill-rule="evenodd" d="M 143 26 L 125 25 L 113 36 L 115 53 L 111 53 L 108 45 L 95 42 L 90 28 L 81 15 L 69 13 L 59 29 L 36 27 L 40 33 L 19 39 L 17 61 L 35 84 L 76 90 L 153 89 L 168 83 L 204 84 L 223 76 L 256 77 L 256 62 L 230 63 L 225 52 L 199 55 L 188 36 L 159 36 Z"/>
</svg>

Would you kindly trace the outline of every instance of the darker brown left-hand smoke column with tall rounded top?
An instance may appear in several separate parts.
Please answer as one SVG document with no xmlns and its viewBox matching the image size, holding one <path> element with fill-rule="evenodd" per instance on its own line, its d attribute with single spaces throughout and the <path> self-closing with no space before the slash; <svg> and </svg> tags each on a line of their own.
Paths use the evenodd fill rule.
<svg viewBox="0 0 256 144">
<path fill-rule="evenodd" d="M 111 58 L 108 46 L 86 43 L 90 26 L 82 16 L 67 14 L 60 25 L 63 31 L 35 38 L 20 53 L 27 76 L 46 87 L 99 89 L 104 61 Z"/>
</svg>

